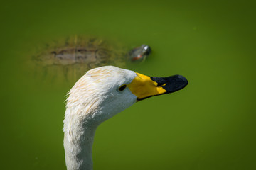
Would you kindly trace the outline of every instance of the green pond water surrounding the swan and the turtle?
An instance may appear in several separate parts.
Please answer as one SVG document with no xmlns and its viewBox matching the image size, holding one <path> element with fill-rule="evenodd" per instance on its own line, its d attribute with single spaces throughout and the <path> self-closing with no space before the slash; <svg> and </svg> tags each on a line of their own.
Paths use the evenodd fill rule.
<svg viewBox="0 0 256 170">
<path fill-rule="evenodd" d="M 253 1 L 1 1 L 1 169 L 65 169 L 67 82 L 26 61 L 36 47 L 95 35 L 150 45 L 154 77 L 185 76 L 174 94 L 136 103 L 102 123 L 95 169 L 256 169 Z"/>
</svg>

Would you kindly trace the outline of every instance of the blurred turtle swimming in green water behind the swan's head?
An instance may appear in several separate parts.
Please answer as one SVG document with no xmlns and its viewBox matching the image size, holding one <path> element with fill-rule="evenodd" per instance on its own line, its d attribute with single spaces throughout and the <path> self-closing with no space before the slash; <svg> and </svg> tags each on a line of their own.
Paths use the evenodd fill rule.
<svg viewBox="0 0 256 170">
<path fill-rule="evenodd" d="M 77 35 L 44 46 L 33 55 L 31 64 L 36 64 L 34 68 L 37 75 L 41 74 L 39 77 L 59 82 L 74 82 L 95 67 L 126 68 L 127 62 L 144 62 L 151 52 L 149 45 L 128 50 L 120 42 Z"/>
</svg>

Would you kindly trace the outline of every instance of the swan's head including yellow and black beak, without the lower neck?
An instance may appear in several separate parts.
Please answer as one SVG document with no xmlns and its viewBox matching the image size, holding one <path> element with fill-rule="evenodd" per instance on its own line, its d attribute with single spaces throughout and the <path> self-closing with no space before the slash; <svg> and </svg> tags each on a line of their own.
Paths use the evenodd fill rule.
<svg viewBox="0 0 256 170">
<path fill-rule="evenodd" d="M 178 91 L 187 84 L 179 75 L 148 77 L 113 66 L 91 69 L 70 89 L 64 131 L 67 124 L 80 120 L 90 126 L 99 125 L 137 101 Z"/>
</svg>

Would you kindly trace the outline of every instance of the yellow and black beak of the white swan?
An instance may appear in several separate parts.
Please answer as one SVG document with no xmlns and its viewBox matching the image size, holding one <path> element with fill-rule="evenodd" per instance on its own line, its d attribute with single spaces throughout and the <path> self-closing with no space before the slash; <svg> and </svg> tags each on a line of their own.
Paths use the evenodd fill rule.
<svg viewBox="0 0 256 170">
<path fill-rule="evenodd" d="M 188 80 L 181 75 L 148 77 L 137 73 L 137 77 L 130 84 L 127 84 L 127 87 L 132 91 L 132 94 L 137 96 L 137 101 L 141 101 L 151 96 L 170 94 L 183 89 L 186 85 L 188 85 Z"/>
</svg>

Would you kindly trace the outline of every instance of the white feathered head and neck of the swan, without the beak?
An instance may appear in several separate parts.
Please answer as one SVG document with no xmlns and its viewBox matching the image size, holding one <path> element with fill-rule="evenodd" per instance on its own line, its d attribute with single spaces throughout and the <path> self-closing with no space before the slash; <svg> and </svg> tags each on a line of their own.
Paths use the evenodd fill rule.
<svg viewBox="0 0 256 170">
<path fill-rule="evenodd" d="M 70 89 L 64 119 L 65 161 L 68 170 L 92 169 L 92 143 L 100 123 L 132 106 L 137 97 L 119 91 L 136 73 L 105 66 L 91 69 Z"/>
</svg>

